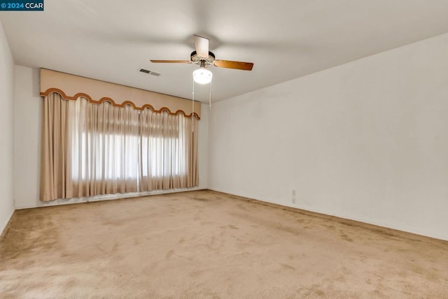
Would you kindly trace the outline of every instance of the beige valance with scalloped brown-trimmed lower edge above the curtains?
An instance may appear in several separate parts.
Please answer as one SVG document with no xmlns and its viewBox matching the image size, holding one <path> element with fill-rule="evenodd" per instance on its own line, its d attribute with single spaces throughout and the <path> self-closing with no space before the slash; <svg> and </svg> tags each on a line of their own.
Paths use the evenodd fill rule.
<svg viewBox="0 0 448 299">
<path fill-rule="evenodd" d="M 188 99 L 41 68 L 41 96 L 48 96 L 52 92 L 57 92 L 66 100 L 85 96 L 91 103 L 109 101 L 117 107 L 132 105 L 137 110 L 151 108 L 154 112 L 167 111 L 172 115 L 183 114 L 186 117 L 194 113 L 196 117 L 201 117 L 200 102 L 195 101 L 193 106 Z"/>
</svg>

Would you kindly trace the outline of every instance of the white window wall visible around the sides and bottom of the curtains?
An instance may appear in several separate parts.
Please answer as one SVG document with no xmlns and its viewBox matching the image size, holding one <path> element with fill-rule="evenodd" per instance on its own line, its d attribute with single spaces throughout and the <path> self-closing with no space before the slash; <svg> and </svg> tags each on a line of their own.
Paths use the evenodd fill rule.
<svg viewBox="0 0 448 299">
<path fill-rule="evenodd" d="M 207 188 L 208 178 L 208 127 L 209 110 L 202 105 L 199 125 L 199 171 L 200 185 L 194 189 Z M 41 157 L 42 101 L 39 96 L 39 70 L 15 66 L 15 207 L 39 207 L 83 202 L 85 198 L 54 200 L 42 203 L 39 200 Z M 161 193 L 161 192 L 153 192 Z M 137 194 L 135 194 L 137 196 Z M 120 196 L 100 196 L 111 199 Z"/>
</svg>

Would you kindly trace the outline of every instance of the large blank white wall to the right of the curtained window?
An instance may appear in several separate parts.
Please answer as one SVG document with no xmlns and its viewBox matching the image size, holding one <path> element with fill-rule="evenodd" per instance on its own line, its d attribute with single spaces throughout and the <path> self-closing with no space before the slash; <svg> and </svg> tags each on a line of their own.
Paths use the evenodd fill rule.
<svg viewBox="0 0 448 299">
<path fill-rule="evenodd" d="M 209 187 L 448 240 L 447 53 L 444 34 L 215 103 Z"/>
</svg>

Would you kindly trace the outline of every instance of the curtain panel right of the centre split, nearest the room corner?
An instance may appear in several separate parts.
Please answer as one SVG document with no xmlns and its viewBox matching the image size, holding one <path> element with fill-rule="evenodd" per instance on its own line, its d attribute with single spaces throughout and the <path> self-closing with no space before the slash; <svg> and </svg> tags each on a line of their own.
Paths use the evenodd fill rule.
<svg viewBox="0 0 448 299">
<path fill-rule="evenodd" d="M 141 191 L 197 185 L 197 170 L 189 171 L 197 163 L 191 159 L 197 155 L 192 122 L 196 118 L 141 111 Z"/>
</svg>

